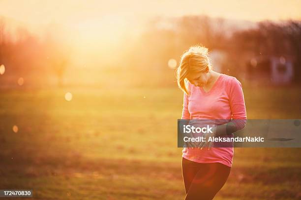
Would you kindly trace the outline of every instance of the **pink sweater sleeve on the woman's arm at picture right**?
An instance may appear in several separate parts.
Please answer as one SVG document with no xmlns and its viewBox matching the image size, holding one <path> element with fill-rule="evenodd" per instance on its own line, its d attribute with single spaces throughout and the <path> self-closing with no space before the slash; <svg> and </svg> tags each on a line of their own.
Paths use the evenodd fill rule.
<svg viewBox="0 0 301 200">
<path fill-rule="evenodd" d="M 245 127 L 247 118 L 241 82 L 236 78 L 231 81 L 229 101 L 232 122 L 235 123 L 236 129 L 240 130 Z"/>
</svg>

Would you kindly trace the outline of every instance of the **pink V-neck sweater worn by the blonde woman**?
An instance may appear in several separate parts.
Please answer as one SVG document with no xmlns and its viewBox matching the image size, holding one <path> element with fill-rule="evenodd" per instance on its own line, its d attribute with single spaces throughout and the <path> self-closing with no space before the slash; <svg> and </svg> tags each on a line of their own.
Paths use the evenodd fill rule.
<svg viewBox="0 0 301 200">
<path fill-rule="evenodd" d="M 211 90 L 188 83 L 190 97 L 184 93 L 181 119 L 246 119 L 241 82 L 235 77 L 221 74 Z M 236 123 L 244 127 L 246 121 Z M 219 162 L 232 166 L 234 148 L 184 148 L 182 157 L 199 163 Z"/>
</svg>

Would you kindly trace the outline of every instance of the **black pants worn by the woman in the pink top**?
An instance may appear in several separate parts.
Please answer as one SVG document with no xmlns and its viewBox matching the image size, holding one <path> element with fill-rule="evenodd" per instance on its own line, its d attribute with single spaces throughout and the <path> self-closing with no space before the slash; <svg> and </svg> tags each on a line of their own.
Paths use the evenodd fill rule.
<svg viewBox="0 0 301 200">
<path fill-rule="evenodd" d="M 212 200 L 223 187 L 231 167 L 221 163 L 197 163 L 182 157 L 185 200 Z"/>
</svg>

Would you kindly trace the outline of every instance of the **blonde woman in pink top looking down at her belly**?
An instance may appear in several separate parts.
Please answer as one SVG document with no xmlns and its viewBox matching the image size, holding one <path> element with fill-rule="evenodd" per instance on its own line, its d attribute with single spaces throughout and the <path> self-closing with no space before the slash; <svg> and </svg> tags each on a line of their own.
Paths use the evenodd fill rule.
<svg viewBox="0 0 301 200">
<path fill-rule="evenodd" d="M 244 128 L 246 110 L 241 83 L 212 70 L 207 48 L 193 46 L 183 53 L 177 79 L 184 92 L 181 119 L 227 120 L 205 138 L 232 135 Z M 211 148 L 208 140 L 193 145 L 195 148 L 186 146 L 182 150 L 185 200 L 212 200 L 230 174 L 234 148 L 216 148 L 214 144 Z"/>
</svg>

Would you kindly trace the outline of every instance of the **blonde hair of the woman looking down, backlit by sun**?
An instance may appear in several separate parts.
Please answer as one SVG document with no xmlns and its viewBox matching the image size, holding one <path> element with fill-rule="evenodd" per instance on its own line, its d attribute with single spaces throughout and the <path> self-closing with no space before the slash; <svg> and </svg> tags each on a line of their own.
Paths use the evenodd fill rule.
<svg viewBox="0 0 301 200">
<path fill-rule="evenodd" d="M 192 73 L 204 72 L 206 68 L 211 70 L 208 49 L 206 47 L 195 45 L 184 51 L 181 56 L 181 62 L 177 69 L 177 81 L 179 88 L 189 95 L 187 90 L 187 75 Z"/>
</svg>

